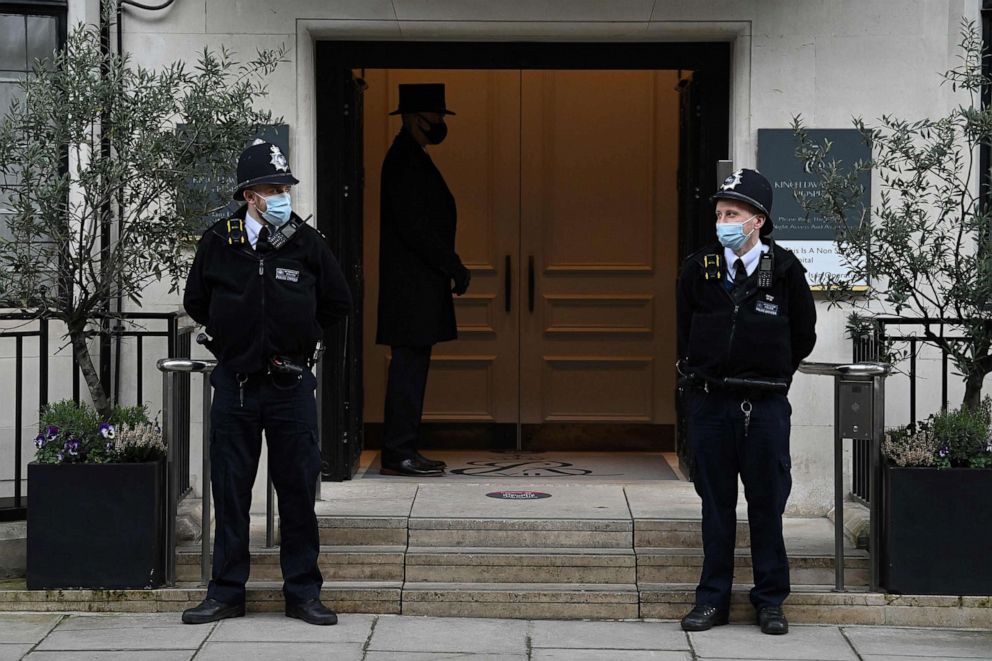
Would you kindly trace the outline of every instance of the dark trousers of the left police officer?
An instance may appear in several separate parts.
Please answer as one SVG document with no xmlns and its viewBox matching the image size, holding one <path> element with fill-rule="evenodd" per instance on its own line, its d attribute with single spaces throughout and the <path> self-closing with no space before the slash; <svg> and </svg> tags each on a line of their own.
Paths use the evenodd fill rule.
<svg viewBox="0 0 992 661">
<path fill-rule="evenodd" d="M 288 603 L 319 598 L 324 579 L 317 568 L 320 538 L 314 513 L 320 475 L 317 380 L 309 371 L 301 379 L 253 374 L 239 392 L 239 378 L 223 365 L 210 377 L 210 481 L 216 524 L 207 596 L 231 604 L 245 600 L 251 488 L 265 430 L 269 473 L 279 499 L 283 594 Z"/>
</svg>

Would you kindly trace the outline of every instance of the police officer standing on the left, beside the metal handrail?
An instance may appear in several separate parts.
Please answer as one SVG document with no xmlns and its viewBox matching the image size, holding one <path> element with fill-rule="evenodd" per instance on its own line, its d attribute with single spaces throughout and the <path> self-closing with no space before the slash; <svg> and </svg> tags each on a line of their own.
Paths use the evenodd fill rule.
<svg viewBox="0 0 992 661">
<path fill-rule="evenodd" d="M 314 350 L 348 314 L 351 295 L 324 237 L 292 211 L 299 183 L 276 145 L 261 140 L 238 160 L 234 199 L 245 204 L 197 246 L 183 303 L 206 327 L 211 374 L 211 486 L 217 515 L 213 578 L 187 624 L 245 614 L 248 524 L 262 432 L 279 497 L 286 615 L 334 624 L 320 602 L 314 513 L 320 449 Z"/>
</svg>

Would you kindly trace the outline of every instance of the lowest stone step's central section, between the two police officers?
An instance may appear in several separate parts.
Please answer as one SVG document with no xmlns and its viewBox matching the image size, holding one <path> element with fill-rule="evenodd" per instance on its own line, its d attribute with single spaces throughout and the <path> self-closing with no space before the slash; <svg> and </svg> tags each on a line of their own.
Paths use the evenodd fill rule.
<svg viewBox="0 0 992 661">
<path fill-rule="evenodd" d="M 634 584 L 407 583 L 404 615 L 524 619 L 638 617 Z"/>
</svg>

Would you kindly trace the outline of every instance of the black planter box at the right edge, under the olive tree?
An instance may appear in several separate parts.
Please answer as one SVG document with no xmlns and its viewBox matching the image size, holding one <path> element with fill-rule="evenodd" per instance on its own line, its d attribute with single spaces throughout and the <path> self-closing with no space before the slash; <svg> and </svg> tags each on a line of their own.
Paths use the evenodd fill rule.
<svg viewBox="0 0 992 661">
<path fill-rule="evenodd" d="M 992 595 L 992 469 L 883 466 L 882 490 L 886 590 Z"/>
</svg>

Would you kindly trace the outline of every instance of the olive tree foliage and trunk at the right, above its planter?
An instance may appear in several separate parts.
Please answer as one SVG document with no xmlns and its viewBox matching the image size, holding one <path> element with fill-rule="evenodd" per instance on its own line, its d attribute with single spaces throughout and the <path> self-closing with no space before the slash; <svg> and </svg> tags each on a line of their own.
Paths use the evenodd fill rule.
<svg viewBox="0 0 992 661">
<path fill-rule="evenodd" d="M 992 143 L 992 109 L 981 103 L 992 80 L 982 71 L 987 53 L 973 22 L 962 23 L 959 49 L 942 85 L 963 103 L 936 118 L 884 115 L 877 126 L 854 120 L 870 148 L 868 162 L 839 163 L 830 143 L 815 143 L 800 117 L 793 130 L 796 156 L 821 193 L 797 199 L 807 216 L 833 223 L 846 269 L 817 284 L 831 303 L 855 308 L 852 327 L 879 311 L 953 320 L 925 325 L 924 338 L 947 351 L 965 380 L 964 406 L 974 408 L 992 372 L 992 215 L 988 176 L 978 172 L 979 147 Z M 858 175 L 865 171 L 881 188 L 874 209 L 862 202 Z M 871 285 L 867 293 L 856 287 L 864 282 Z"/>
</svg>

